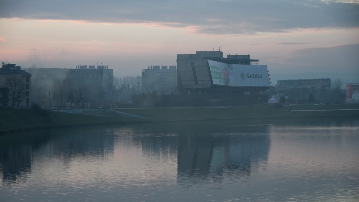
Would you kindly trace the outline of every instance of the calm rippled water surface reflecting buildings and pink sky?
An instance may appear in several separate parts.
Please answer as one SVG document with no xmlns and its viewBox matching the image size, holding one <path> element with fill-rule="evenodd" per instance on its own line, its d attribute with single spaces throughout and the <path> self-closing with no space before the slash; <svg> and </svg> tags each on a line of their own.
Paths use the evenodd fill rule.
<svg viewBox="0 0 359 202">
<path fill-rule="evenodd" d="M 0 201 L 359 201 L 359 117 L 0 136 Z"/>
</svg>

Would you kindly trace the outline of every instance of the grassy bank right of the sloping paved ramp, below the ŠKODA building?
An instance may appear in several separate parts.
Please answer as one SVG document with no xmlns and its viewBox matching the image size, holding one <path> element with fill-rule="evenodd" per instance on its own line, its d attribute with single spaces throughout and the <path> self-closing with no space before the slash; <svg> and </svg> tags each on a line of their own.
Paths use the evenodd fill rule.
<svg viewBox="0 0 359 202">
<path fill-rule="evenodd" d="M 252 105 L 238 107 L 140 108 L 116 110 L 162 121 L 225 118 L 236 119 L 359 116 L 359 110 L 343 109 L 359 109 L 359 105 L 290 105 L 284 106 L 283 108 L 275 108 L 270 105 Z"/>
</svg>

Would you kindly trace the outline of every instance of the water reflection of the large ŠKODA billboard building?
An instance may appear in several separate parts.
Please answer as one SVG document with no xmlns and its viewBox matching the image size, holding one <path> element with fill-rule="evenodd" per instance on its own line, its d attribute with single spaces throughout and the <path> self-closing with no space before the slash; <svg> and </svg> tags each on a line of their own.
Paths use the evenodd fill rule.
<svg viewBox="0 0 359 202">
<path fill-rule="evenodd" d="M 266 165 L 270 147 L 266 126 L 222 126 L 213 130 L 218 133 L 178 134 L 178 183 L 246 178 L 253 169 Z"/>
</svg>

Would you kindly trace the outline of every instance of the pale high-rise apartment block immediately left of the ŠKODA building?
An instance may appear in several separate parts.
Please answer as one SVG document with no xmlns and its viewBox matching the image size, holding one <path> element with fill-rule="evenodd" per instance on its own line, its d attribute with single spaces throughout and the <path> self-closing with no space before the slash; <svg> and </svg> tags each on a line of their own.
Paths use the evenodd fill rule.
<svg viewBox="0 0 359 202">
<path fill-rule="evenodd" d="M 155 91 L 158 94 L 173 95 L 177 91 L 176 66 L 148 66 L 142 70 L 142 90 L 144 94 Z"/>
</svg>

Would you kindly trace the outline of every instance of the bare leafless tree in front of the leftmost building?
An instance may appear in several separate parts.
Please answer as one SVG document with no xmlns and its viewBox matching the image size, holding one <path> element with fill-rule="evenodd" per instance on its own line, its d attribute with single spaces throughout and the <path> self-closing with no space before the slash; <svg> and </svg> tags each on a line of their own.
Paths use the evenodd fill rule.
<svg viewBox="0 0 359 202">
<path fill-rule="evenodd" d="M 7 76 L 5 86 L 9 88 L 11 106 L 19 106 L 26 95 L 26 86 L 22 77 L 17 75 Z"/>
</svg>

